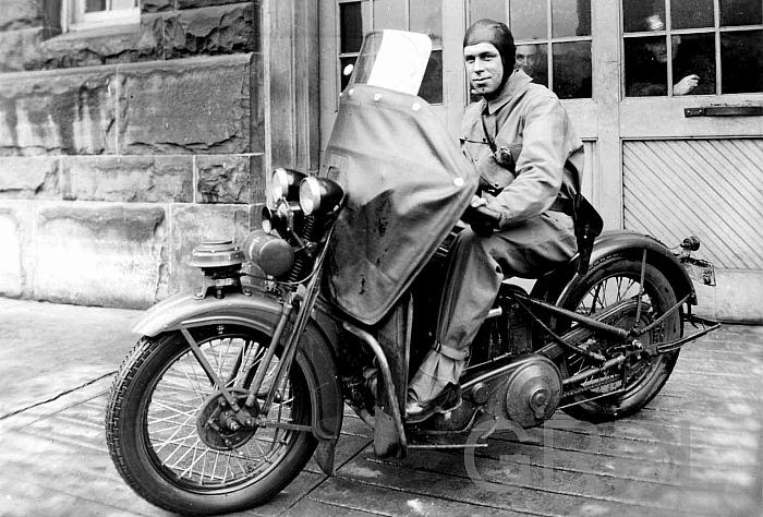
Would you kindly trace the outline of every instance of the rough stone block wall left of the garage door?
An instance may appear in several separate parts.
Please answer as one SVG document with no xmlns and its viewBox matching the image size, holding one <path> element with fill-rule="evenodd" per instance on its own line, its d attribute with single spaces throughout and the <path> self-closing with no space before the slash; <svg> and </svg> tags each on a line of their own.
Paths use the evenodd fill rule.
<svg viewBox="0 0 763 517">
<path fill-rule="evenodd" d="M 143 0 L 140 26 L 57 34 L 57 1 L 0 10 L 0 296 L 144 308 L 257 223 L 263 7 Z"/>
</svg>

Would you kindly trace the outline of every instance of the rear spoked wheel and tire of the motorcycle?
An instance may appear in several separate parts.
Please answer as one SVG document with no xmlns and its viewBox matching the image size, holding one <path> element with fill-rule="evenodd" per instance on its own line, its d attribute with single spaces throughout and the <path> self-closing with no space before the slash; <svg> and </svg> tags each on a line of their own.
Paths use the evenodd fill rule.
<svg viewBox="0 0 763 517">
<path fill-rule="evenodd" d="M 614 318 L 611 324 L 630 329 L 635 322 L 635 303 L 627 300 L 637 300 L 641 281 L 641 261 L 620 255 L 610 255 L 594 264 L 589 273 L 578 280 L 569 290 L 561 306 L 583 313 L 595 315 L 605 306 L 620 303 L 622 310 Z M 644 296 L 642 298 L 641 326 L 655 321 L 676 304 L 676 293 L 665 275 L 651 264 L 646 264 L 644 270 Z M 664 342 L 678 339 L 681 336 L 681 317 L 679 311 L 667 316 L 657 327 L 650 333 L 640 336 L 642 342 Z M 597 347 L 598 352 L 611 357 L 613 347 L 619 344 L 608 344 L 605 339 L 596 339 L 590 346 Z M 565 409 L 565 412 L 573 418 L 590 422 L 606 422 L 628 417 L 645 407 L 662 389 L 678 360 L 679 351 L 650 357 L 643 352 L 640 357 L 631 358 L 626 363 L 628 378 L 625 392 L 610 397 L 586 401 Z M 591 368 L 591 360 L 580 354 L 567 354 L 560 364 L 564 376 Z M 617 370 L 622 374 L 622 366 Z M 594 377 L 591 377 L 592 380 Z M 588 382 L 588 381 L 586 381 Z M 604 385 L 595 389 L 583 390 L 573 395 L 570 401 L 586 400 L 592 397 L 605 395 L 620 387 L 619 381 L 613 381 L 608 386 Z"/>
</svg>

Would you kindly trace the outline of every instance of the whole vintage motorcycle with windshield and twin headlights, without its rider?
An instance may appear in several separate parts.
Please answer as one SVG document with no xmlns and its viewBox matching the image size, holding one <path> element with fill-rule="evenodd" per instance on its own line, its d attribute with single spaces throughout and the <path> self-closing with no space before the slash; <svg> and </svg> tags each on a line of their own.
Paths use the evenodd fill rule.
<svg viewBox="0 0 763 517">
<path fill-rule="evenodd" d="M 182 514 L 267 501 L 311 456 L 334 472 L 344 402 L 379 456 L 484 444 L 491 422 L 557 409 L 606 421 L 643 408 L 679 349 L 717 327 L 692 314 L 712 265 L 576 203 L 580 253 L 526 292 L 506 281 L 461 378 L 462 404 L 405 422 L 433 345 L 450 243 L 479 178 L 417 97 L 426 36 L 371 33 L 316 176 L 277 169 L 263 229 L 193 251 L 196 292 L 152 308 L 106 412 L 111 458 L 150 503 Z M 594 242 L 595 238 L 595 242 Z M 693 333 L 685 335 L 691 324 Z M 467 440 L 474 429 L 486 430 Z M 501 425 L 505 429 L 505 425 Z"/>
</svg>

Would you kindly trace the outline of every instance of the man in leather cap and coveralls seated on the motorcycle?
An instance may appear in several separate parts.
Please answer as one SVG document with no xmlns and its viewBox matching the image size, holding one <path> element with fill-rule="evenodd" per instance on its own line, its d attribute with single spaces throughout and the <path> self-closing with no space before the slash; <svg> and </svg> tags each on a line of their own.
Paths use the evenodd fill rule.
<svg viewBox="0 0 763 517">
<path fill-rule="evenodd" d="M 437 342 L 409 385 L 411 423 L 460 405 L 470 345 L 504 278 L 536 278 L 577 250 L 571 205 L 583 146 L 557 96 L 523 71 L 512 73 L 514 50 L 508 27 L 492 20 L 474 23 L 463 39 L 472 93 L 482 96 L 461 125 L 461 147 L 481 177 L 471 205 L 497 224 L 472 223 L 453 247 Z"/>
</svg>

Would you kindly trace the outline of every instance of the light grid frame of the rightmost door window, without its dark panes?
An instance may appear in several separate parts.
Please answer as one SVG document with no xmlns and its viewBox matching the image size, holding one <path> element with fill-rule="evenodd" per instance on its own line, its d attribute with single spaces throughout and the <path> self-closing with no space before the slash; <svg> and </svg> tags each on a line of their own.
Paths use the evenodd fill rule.
<svg viewBox="0 0 763 517">
<path fill-rule="evenodd" d="M 625 7 L 623 2 L 625 0 L 620 0 L 618 2 L 618 8 L 619 8 L 619 19 L 620 19 L 620 24 L 621 24 L 621 29 L 620 34 L 622 37 L 622 45 L 621 45 L 621 55 L 620 55 L 620 63 L 622 65 L 622 73 L 620 74 L 620 92 L 622 97 L 621 98 L 673 98 L 673 97 L 693 97 L 693 98 L 702 98 L 702 97 L 710 97 L 710 96 L 728 96 L 728 95 L 754 95 L 754 94 L 760 94 L 761 92 L 747 92 L 747 93 L 724 93 L 722 89 L 722 77 L 723 77 L 723 63 L 720 62 L 720 35 L 723 33 L 739 33 L 739 32 L 747 32 L 747 31 L 763 31 L 763 23 L 761 24 L 749 24 L 749 25 L 727 25 L 727 26 L 722 26 L 720 25 L 720 0 L 713 0 L 713 25 L 708 27 L 691 27 L 691 28 L 673 28 L 673 9 L 671 9 L 671 0 L 662 0 L 665 2 L 665 28 L 662 31 L 639 31 L 639 32 L 632 32 L 632 33 L 627 33 L 625 27 L 626 27 L 626 20 L 625 20 Z M 683 35 L 694 35 L 694 34 L 713 34 L 713 41 L 714 41 L 714 52 L 715 52 L 715 93 L 714 94 L 692 94 L 688 93 L 686 95 L 675 95 L 673 93 L 673 86 L 675 84 L 674 82 L 674 76 L 673 76 L 673 62 L 674 62 L 674 56 L 673 56 L 673 36 L 683 36 Z M 627 94 L 627 85 L 626 85 L 626 53 L 625 53 L 625 48 L 626 48 L 626 40 L 627 39 L 635 39 L 635 38 L 644 38 L 644 37 L 650 37 L 650 36 L 661 36 L 665 37 L 666 39 L 666 48 L 667 48 L 667 85 L 669 87 L 666 88 L 666 95 L 650 95 L 650 96 L 628 96 Z"/>
</svg>

